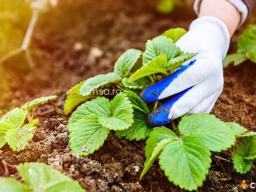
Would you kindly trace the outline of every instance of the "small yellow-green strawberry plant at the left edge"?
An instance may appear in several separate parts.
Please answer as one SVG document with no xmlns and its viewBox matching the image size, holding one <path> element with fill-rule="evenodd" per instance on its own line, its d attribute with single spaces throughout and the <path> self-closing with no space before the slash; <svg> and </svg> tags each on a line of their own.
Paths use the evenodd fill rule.
<svg viewBox="0 0 256 192">
<path fill-rule="evenodd" d="M 21 108 L 16 107 L 14 110 L 4 114 L 0 119 L 0 148 L 7 143 L 14 151 L 25 149 L 28 141 L 33 138 L 39 122 L 38 119 L 31 117 L 31 110 L 36 109 L 41 103 L 52 100 L 55 97 L 54 95 L 37 98 L 26 102 Z M 28 123 L 26 119 L 28 119 Z"/>
</svg>

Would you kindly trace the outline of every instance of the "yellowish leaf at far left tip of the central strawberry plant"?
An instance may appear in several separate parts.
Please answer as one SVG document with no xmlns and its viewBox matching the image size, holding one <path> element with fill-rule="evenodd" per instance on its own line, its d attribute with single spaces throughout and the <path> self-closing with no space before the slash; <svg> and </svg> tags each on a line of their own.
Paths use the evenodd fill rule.
<svg viewBox="0 0 256 192">
<path fill-rule="evenodd" d="M 85 102 L 87 100 L 90 100 L 95 97 L 95 95 L 87 95 L 82 96 L 78 93 L 80 90 L 80 87 L 85 83 L 85 80 L 78 83 L 74 87 L 72 87 L 67 92 L 67 98 L 64 102 L 64 114 L 69 114 L 75 107 L 77 107 L 80 103 Z"/>
</svg>

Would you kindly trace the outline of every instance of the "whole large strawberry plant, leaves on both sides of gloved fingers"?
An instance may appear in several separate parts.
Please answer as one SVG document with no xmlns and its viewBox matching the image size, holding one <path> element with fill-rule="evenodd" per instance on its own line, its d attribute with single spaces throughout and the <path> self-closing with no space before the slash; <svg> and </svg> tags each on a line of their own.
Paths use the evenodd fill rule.
<svg viewBox="0 0 256 192">
<path fill-rule="evenodd" d="M 221 122 L 212 114 L 183 116 L 179 122 L 172 122 L 173 130 L 149 125 L 148 115 L 161 102 L 145 103 L 139 94 L 196 55 L 183 53 L 176 46 L 184 33 L 186 31 L 181 28 L 171 29 L 147 41 L 144 52 L 129 49 L 115 63 L 114 72 L 97 75 L 68 90 L 65 114 L 84 102 L 68 121 L 70 149 L 75 154 L 92 154 L 104 144 L 110 131 L 114 131 L 114 136 L 119 139 L 138 141 L 149 137 L 141 178 L 159 158 L 160 167 L 169 181 L 192 191 L 202 186 L 206 179 L 211 152 L 229 149 L 235 144 L 236 137 L 255 134 L 238 124 Z M 114 89 L 120 92 L 99 94 L 100 90 Z"/>
</svg>

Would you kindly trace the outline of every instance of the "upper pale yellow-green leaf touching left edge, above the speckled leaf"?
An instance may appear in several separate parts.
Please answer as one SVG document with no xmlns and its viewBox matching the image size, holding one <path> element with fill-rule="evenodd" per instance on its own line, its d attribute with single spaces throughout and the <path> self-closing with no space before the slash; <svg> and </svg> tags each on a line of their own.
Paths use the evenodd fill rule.
<svg viewBox="0 0 256 192">
<path fill-rule="evenodd" d="M 1 121 L 13 124 L 16 127 L 21 127 L 26 119 L 26 114 L 26 110 L 16 107 L 14 110 L 4 114 Z"/>
</svg>

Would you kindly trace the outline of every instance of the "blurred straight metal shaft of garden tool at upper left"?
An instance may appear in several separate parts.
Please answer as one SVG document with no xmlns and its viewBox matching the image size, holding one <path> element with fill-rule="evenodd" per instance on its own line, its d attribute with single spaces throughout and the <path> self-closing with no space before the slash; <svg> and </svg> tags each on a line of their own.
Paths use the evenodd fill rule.
<svg viewBox="0 0 256 192">
<path fill-rule="evenodd" d="M 28 49 L 29 43 L 31 41 L 31 36 L 36 26 L 36 21 L 38 20 L 38 15 L 40 14 L 40 12 L 41 11 L 39 9 L 34 9 L 32 12 L 31 20 L 29 21 L 28 29 L 26 31 L 26 35 L 23 39 L 23 43 L 21 46 L 21 48 L 24 50 Z"/>
</svg>

